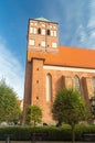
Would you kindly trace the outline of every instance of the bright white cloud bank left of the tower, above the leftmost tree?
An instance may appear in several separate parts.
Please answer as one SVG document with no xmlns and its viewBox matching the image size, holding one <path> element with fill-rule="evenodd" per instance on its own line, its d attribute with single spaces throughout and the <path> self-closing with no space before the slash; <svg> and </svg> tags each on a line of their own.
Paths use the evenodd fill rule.
<svg viewBox="0 0 95 143">
<path fill-rule="evenodd" d="M 23 98 L 24 69 L 0 36 L 0 79 L 2 77 L 6 78 L 6 82 L 13 88 L 18 97 Z"/>
</svg>

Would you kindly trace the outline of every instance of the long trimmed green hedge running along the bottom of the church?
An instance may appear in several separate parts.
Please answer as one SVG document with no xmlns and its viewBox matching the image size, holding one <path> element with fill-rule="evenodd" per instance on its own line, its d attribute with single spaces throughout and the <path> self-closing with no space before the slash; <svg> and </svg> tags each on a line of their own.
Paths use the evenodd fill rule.
<svg viewBox="0 0 95 143">
<path fill-rule="evenodd" d="M 30 141 L 32 140 L 33 133 L 48 133 L 45 136 L 46 141 L 71 141 L 72 132 L 71 127 L 64 124 L 61 128 L 56 127 L 36 127 L 35 129 L 32 127 L 0 127 L 0 141 L 4 141 L 7 139 L 7 134 L 11 134 L 12 141 Z M 85 125 L 76 125 L 75 134 L 76 141 L 83 140 L 84 132 L 94 132 L 95 125 L 85 124 Z M 43 139 L 44 140 L 44 139 Z"/>
</svg>

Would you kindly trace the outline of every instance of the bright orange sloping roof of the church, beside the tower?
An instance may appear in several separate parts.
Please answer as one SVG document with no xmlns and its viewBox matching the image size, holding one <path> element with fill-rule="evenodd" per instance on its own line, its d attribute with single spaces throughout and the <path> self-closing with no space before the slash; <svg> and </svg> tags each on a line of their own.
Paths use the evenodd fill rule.
<svg viewBox="0 0 95 143">
<path fill-rule="evenodd" d="M 28 61 L 44 58 L 44 64 L 95 68 L 95 50 L 60 46 L 59 53 L 28 52 Z"/>
</svg>

